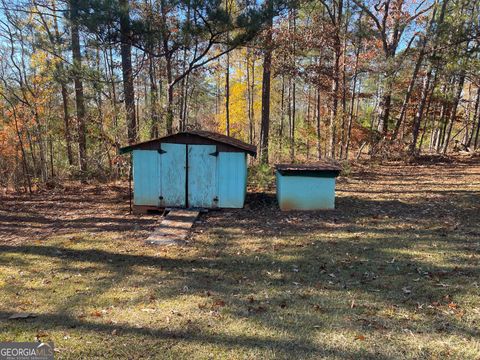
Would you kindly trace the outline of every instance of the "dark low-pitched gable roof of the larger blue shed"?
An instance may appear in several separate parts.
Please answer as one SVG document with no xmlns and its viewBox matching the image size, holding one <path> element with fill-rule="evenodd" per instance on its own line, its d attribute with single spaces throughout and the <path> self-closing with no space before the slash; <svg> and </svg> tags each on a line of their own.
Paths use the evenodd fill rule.
<svg viewBox="0 0 480 360">
<path fill-rule="evenodd" d="M 128 153 L 132 150 L 135 149 L 141 149 L 145 148 L 147 146 L 155 145 L 156 143 L 161 143 L 163 141 L 168 140 L 169 142 L 172 142 L 175 140 L 175 138 L 184 138 L 185 136 L 194 136 L 194 137 L 200 137 L 203 139 L 207 139 L 216 143 L 228 145 L 230 147 L 245 151 L 249 153 L 252 156 L 257 155 L 257 147 L 255 145 L 247 144 L 241 140 L 235 139 L 231 136 L 226 136 L 223 134 L 218 134 L 215 132 L 211 131 L 205 131 L 205 130 L 191 130 L 191 131 L 183 131 L 179 132 L 176 134 L 172 135 L 167 135 L 161 138 L 153 139 L 153 140 L 148 140 L 148 141 L 143 141 L 137 144 L 129 145 L 120 148 L 120 154 L 125 154 Z"/>
</svg>

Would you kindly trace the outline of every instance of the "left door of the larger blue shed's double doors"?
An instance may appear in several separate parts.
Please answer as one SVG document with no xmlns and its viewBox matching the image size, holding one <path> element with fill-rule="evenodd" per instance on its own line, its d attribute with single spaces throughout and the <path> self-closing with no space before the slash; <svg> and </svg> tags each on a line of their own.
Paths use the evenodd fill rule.
<svg viewBox="0 0 480 360">
<path fill-rule="evenodd" d="M 160 206 L 185 207 L 187 146 L 161 144 L 160 156 Z"/>
</svg>

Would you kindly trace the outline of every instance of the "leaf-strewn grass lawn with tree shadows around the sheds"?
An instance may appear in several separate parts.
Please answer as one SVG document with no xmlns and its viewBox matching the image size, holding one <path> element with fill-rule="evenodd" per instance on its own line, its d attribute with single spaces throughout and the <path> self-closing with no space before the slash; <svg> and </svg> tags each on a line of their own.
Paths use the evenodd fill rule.
<svg viewBox="0 0 480 360">
<path fill-rule="evenodd" d="M 0 198 L 0 341 L 65 359 L 480 358 L 478 161 L 357 167 L 334 211 L 251 194 L 183 247 L 144 245 L 156 217 L 125 194 Z"/>
</svg>

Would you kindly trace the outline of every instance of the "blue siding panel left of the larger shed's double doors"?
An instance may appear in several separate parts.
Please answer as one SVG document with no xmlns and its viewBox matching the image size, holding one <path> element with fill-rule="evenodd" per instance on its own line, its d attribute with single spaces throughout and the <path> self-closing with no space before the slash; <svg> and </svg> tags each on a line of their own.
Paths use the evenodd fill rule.
<svg viewBox="0 0 480 360">
<path fill-rule="evenodd" d="M 160 154 L 152 150 L 133 151 L 135 205 L 159 206 Z"/>
</svg>

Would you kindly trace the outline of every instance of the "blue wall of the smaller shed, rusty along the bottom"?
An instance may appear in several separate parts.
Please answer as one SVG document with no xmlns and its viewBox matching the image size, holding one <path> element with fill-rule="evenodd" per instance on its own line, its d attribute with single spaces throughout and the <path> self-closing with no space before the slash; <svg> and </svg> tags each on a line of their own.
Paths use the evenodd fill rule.
<svg viewBox="0 0 480 360">
<path fill-rule="evenodd" d="M 335 178 L 282 175 L 277 171 L 277 200 L 282 210 L 335 208 Z"/>
</svg>

